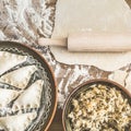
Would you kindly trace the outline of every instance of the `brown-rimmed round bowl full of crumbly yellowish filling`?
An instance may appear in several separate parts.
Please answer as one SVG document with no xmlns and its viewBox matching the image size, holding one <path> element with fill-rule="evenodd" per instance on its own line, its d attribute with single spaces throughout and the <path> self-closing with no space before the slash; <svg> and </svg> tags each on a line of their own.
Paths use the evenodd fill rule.
<svg viewBox="0 0 131 131">
<path fill-rule="evenodd" d="M 91 80 L 66 100 L 64 131 L 131 131 L 131 93 L 109 80 Z"/>
</svg>

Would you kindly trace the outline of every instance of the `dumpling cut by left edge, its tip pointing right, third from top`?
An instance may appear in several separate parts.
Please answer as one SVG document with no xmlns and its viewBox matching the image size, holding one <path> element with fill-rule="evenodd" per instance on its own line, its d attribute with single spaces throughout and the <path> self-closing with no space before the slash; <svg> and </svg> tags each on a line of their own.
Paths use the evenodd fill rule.
<svg viewBox="0 0 131 131">
<path fill-rule="evenodd" d="M 22 92 L 0 88 L 0 109 L 5 107 L 13 99 L 15 99 L 20 95 L 20 93 Z"/>
</svg>

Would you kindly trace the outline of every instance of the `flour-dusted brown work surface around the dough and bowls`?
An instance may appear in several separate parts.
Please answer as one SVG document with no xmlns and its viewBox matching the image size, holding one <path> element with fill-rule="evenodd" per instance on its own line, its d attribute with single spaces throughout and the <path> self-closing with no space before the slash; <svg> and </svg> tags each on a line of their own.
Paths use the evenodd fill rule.
<svg viewBox="0 0 131 131">
<path fill-rule="evenodd" d="M 0 40 L 16 40 L 31 45 L 41 52 L 53 69 L 58 83 L 58 102 L 61 107 L 73 88 L 91 79 L 104 78 L 115 80 L 131 90 L 130 63 L 117 71 L 104 71 L 92 64 L 63 64 L 56 61 L 48 47 L 39 47 L 36 45 L 38 37 L 50 37 L 52 34 L 53 24 L 56 24 L 53 22 L 56 1 L 57 0 L 1 0 Z M 122 75 L 117 79 L 120 74 Z"/>
</svg>

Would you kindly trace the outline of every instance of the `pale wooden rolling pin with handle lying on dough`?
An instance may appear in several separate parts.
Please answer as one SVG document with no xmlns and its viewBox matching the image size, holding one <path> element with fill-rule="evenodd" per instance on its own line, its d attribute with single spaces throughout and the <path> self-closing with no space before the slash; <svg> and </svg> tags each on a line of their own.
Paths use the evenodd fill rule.
<svg viewBox="0 0 131 131">
<path fill-rule="evenodd" d="M 67 38 L 39 38 L 40 46 L 63 46 L 69 51 L 130 51 L 131 33 L 78 33 Z"/>
</svg>

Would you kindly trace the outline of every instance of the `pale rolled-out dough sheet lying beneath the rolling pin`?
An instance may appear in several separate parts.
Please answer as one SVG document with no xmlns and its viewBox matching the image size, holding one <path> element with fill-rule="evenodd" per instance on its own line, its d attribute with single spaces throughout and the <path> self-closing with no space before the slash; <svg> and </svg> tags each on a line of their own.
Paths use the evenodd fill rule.
<svg viewBox="0 0 131 131">
<path fill-rule="evenodd" d="M 131 32 L 131 10 L 124 0 L 58 0 L 52 37 L 76 32 Z M 105 71 L 131 62 L 131 52 L 69 52 L 60 47 L 51 47 L 51 51 L 59 62 L 90 64 Z"/>
</svg>

